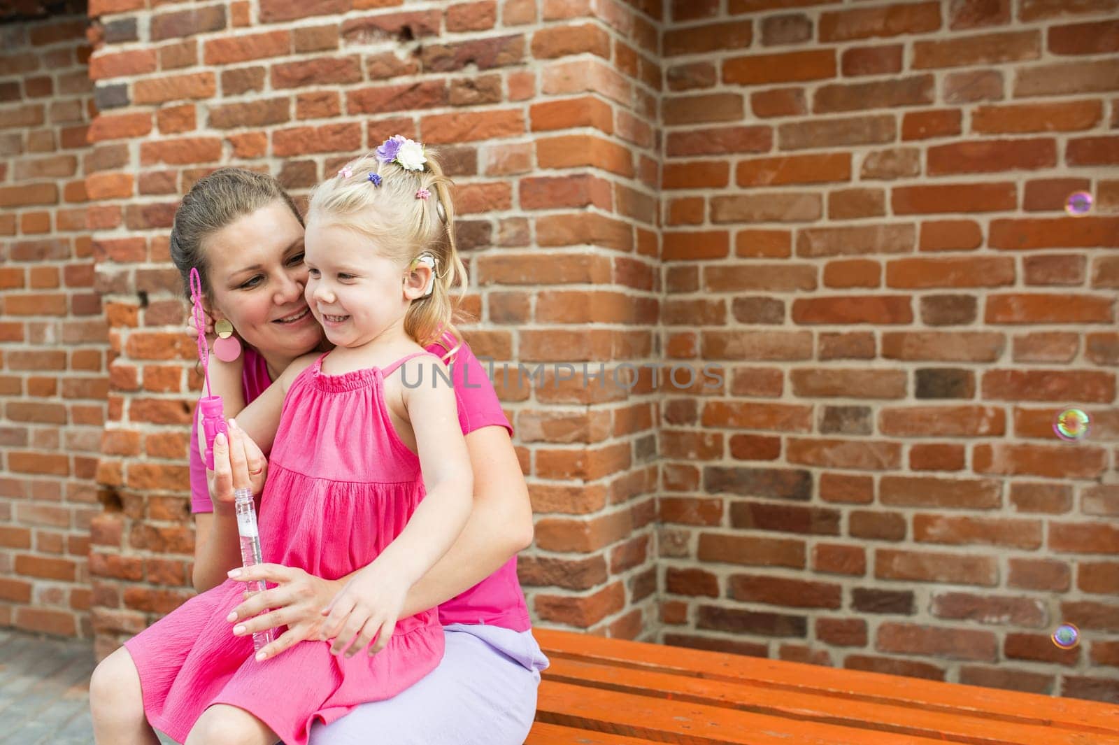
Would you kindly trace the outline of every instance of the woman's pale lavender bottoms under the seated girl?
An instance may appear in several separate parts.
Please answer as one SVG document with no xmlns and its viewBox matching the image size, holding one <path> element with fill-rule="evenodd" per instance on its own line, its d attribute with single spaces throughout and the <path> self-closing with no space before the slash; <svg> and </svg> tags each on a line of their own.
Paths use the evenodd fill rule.
<svg viewBox="0 0 1119 745">
<path fill-rule="evenodd" d="M 310 745 L 521 745 L 548 667 L 533 632 L 454 623 L 443 634 L 443 660 L 425 678 L 312 725 Z"/>
</svg>

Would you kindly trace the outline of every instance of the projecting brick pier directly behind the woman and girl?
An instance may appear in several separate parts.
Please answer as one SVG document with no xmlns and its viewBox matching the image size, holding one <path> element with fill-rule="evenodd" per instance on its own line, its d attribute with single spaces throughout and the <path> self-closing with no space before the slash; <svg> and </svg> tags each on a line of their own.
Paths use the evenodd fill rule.
<svg viewBox="0 0 1119 745">
<path fill-rule="evenodd" d="M 190 594 L 182 455 L 198 380 L 166 262 L 179 195 L 235 163 L 302 196 L 395 132 L 448 155 L 480 318 L 468 338 L 513 362 L 509 385 L 497 378 L 539 513 L 523 563 L 536 617 L 655 635 L 656 392 L 516 385 L 518 362 L 527 376 L 659 357 L 660 13 L 648 4 L 91 3 L 104 39 L 91 59 L 91 219 L 119 352 L 98 469 L 116 501 L 93 527 L 101 652 Z"/>
</svg>

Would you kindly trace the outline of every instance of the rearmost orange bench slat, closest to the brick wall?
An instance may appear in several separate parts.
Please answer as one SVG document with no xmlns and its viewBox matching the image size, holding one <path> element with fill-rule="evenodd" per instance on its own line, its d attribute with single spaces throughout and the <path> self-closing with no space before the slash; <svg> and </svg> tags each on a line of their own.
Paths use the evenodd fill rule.
<svg viewBox="0 0 1119 745">
<path fill-rule="evenodd" d="M 1057 725 L 1085 733 L 1119 735 L 1119 707 L 1098 701 L 643 642 L 619 643 L 618 640 L 546 629 L 535 629 L 533 633 L 553 659 L 751 683 L 847 701 L 873 701 L 987 717 L 997 722 Z"/>
</svg>

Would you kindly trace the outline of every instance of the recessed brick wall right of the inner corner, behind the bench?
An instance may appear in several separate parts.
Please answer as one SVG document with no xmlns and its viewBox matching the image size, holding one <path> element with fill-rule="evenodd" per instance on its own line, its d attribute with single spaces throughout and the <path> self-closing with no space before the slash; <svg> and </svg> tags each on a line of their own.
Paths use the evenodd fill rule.
<svg viewBox="0 0 1119 745">
<path fill-rule="evenodd" d="M 662 638 L 1116 700 L 1116 3 L 671 4 Z"/>
</svg>

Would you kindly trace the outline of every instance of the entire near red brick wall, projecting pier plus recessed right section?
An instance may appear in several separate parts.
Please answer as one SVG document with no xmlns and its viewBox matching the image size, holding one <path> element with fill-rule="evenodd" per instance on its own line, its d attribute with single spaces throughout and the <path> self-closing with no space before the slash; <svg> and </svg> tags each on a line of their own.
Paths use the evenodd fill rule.
<svg viewBox="0 0 1119 745">
<path fill-rule="evenodd" d="M 305 195 L 403 132 L 450 157 L 513 380 L 722 366 L 498 368 L 537 622 L 1119 697 L 1115 3 L 1065 4 L 93 0 L 98 651 L 190 595 L 179 196 Z"/>
</svg>

